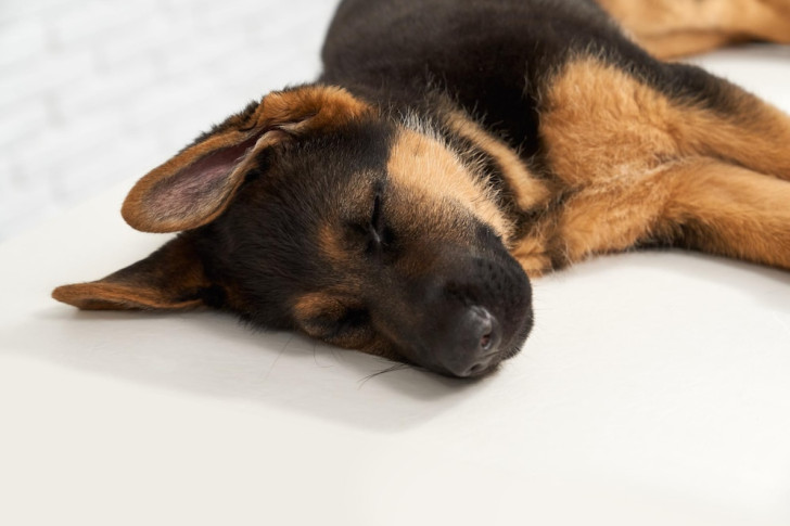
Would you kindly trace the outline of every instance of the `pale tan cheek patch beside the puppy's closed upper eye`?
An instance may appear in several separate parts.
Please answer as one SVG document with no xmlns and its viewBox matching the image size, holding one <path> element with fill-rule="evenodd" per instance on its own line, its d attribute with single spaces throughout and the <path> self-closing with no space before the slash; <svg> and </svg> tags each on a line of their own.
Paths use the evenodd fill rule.
<svg viewBox="0 0 790 526">
<path fill-rule="evenodd" d="M 390 176 L 399 188 L 417 198 L 439 204 L 449 200 L 468 209 L 477 219 L 490 226 L 505 241 L 510 241 L 511 224 L 497 207 L 493 191 L 470 174 L 438 139 L 403 129 L 390 154 Z"/>
</svg>

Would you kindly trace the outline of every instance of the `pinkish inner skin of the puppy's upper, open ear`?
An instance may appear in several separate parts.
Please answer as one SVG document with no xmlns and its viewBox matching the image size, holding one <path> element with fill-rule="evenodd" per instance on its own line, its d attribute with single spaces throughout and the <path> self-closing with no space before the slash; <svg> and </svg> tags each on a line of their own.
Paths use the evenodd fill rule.
<svg viewBox="0 0 790 526">
<path fill-rule="evenodd" d="M 234 175 L 233 169 L 257 140 L 257 136 L 252 137 L 235 146 L 214 152 L 158 181 L 145 198 L 149 217 L 157 221 L 175 219 L 201 223 L 234 190 L 243 174 Z"/>
</svg>

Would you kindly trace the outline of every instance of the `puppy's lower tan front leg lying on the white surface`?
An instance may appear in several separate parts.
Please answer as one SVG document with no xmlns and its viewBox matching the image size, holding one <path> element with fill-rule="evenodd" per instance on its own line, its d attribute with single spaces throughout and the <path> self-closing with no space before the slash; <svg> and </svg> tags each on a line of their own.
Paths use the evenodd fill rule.
<svg viewBox="0 0 790 526">
<path fill-rule="evenodd" d="M 595 254 L 674 245 L 790 269 L 790 182 L 710 157 L 579 191 L 512 251 L 531 277 Z"/>
</svg>

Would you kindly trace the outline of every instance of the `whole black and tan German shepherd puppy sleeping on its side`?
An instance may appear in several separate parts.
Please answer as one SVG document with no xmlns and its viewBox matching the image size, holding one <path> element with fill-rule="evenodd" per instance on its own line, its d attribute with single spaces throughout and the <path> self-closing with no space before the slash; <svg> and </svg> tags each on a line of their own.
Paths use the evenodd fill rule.
<svg viewBox="0 0 790 526">
<path fill-rule="evenodd" d="M 790 1 L 345 0 L 315 84 L 131 190 L 130 226 L 180 235 L 53 296 L 208 306 L 466 377 L 521 348 L 530 279 L 590 255 L 790 269 L 790 118 L 663 61 L 741 39 L 790 41 Z"/>
</svg>

